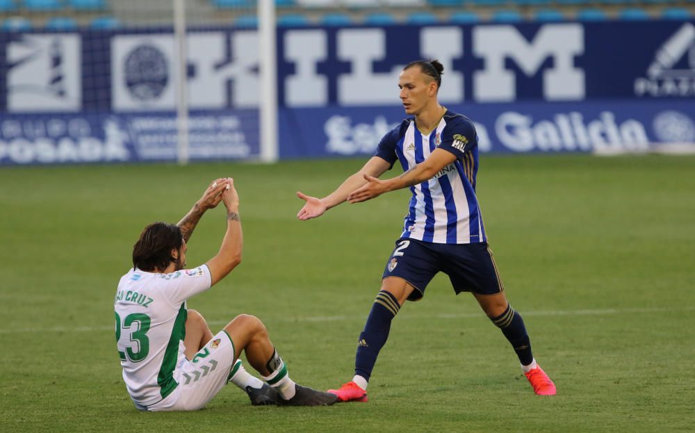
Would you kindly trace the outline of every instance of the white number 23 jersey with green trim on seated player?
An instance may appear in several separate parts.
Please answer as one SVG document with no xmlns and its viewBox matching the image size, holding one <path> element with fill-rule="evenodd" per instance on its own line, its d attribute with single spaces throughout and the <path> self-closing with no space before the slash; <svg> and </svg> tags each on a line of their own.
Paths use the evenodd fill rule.
<svg viewBox="0 0 695 433">
<path fill-rule="evenodd" d="M 174 370 L 186 358 L 186 300 L 211 286 L 206 265 L 155 274 L 134 269 L 116 291 L 116 345 L 133 402 L 154 405 L 178 383 Z"/>
</svg>

